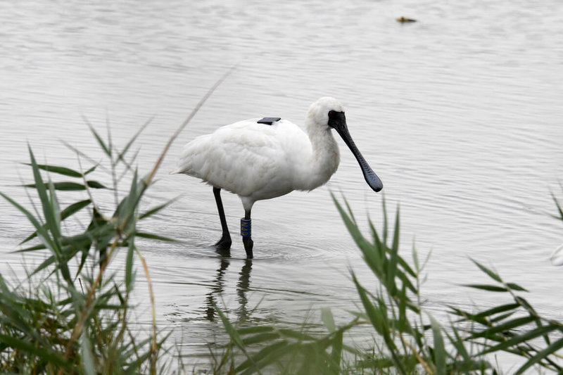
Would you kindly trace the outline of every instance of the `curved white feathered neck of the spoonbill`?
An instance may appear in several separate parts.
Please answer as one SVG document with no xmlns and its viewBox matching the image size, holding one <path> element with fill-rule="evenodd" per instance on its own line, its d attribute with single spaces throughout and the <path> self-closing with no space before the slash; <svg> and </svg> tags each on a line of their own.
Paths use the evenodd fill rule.
<svg viewBox="0 0 563 375">
<path fill-rule="evenodd" d="M 330 177 L 336 172 L 340 163 L 339 146 L 328 127 L 319 127 L 310 124 L 307 119 L 307 133 L 311 141 L 311 154 L 308 163 L 305 164 L 306 178 L 303 179 L 301 190 L 312 190 L 326 184 Z"/>
</svg>

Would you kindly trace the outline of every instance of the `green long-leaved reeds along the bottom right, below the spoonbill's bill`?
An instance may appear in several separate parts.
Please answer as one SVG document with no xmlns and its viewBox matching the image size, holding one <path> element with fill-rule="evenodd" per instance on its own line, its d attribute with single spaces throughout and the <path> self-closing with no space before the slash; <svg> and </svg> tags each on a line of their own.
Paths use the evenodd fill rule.
<svg viewBox="0 0 563 375">
<path fill-rule="evenodd" d="M 542 317 L 522 297 L 523 287 L 472 260 L 494 282 L 467 287 L 505 293 L 512 302 L 484 310 L 476 307 L 476 311 L 449 306 L 448 324 L 444 319 L 439 323 L 424 308 L 422 298 L 422 272 L 428 258 L 420 262 L 414 247 L 411 262 L 399 253 L 399 211 L 391 228 L 383 203 L 383 228 L 378 231 L 369 221 L 371 238 L 367 238 L 346 201 L 343 205 L 333 199 L 366 265 L 379 280 L 377 286 L 367 288 L 350 270 L 362 310 L 352 312 L 353 319 L 341 326 L 329 309 L 322 310 L 326 333 L 308 331 L 305 325 L 301 330 L 276 324 L 236 327 L 220 312 L 231 341 L 222 356 L 215 357 L 215 373 L 498 374 L 498 364 L 491 362 L 497 355 L 521 358 L 515 362 L 514 374 L 533 367 L 540 373 L 563 371 L 559 364 L 563 325 Z M 346 335 L 355 327 L 372 330 L 374 341 L 368 350 L 346 343 Z"/>
</svg>

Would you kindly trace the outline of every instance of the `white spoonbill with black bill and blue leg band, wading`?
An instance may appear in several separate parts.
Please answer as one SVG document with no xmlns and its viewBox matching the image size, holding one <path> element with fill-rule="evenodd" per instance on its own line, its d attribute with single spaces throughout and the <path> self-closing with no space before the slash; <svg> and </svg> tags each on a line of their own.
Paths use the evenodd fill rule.
<svg viewBox="0 0 563 375">
<path fill-rule="evenodd" d="M 381 180 L 355 146 L 346 127 L 346 116 L 335 98 L 320 98 L 309 108 L 306 132 L 279 117 L 235 122 L 198 136 L 184 146 L 177 170 L 198 177 L 213 186 L 219 210 L 222 236 L 217 250 L 231 247 L 231 235 L 224 217 L 221 189 L 237 194 L 244 218 L 241 236 L 247 258 L 252 258 L 251 209 L 255 201 L 275 198 L 293 190 L 311 191 L 336 172 L 340 153 L 331 129 L 340 134 L 360 163 L 367 184 L 383 189 Z"/>
</svg>

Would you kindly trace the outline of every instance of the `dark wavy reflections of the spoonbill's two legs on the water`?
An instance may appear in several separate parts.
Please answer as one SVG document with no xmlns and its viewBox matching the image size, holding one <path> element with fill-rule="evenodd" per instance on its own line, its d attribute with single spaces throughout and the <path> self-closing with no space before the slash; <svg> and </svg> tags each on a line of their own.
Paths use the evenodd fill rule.
<svg viewBox="0 0 563 375">
<path fill-rule="evenodd" d="M 227 268 L 230 265 L 231 259 L 229 255 L 220 253 L 222 255 L 219 262 L 219 268 L 215 274 L 215 280 L 211 286 L 211 291 L 207 293 L 206 306 L 205 306 L 205 319 L 210 322 L 215 322 L 217 319 L 217 311 L 215 311 L 215 306 L 222 307 L 222 294 L 224 291 L 224 275 L 227 272 Z M 236 295 L 237 301 L 239 303 L 239 308 L 236 309 L 236 315 L 239 322 L 243 322 L 248 317 L 247 303 L 248 298 L 246 298 L 246 292 L 250 287 L 252 270 L 252 260 L 245 259 L 243 261 L 243 266 L 239 272 L 239 281 L 236 283 Z"/>
</svg>

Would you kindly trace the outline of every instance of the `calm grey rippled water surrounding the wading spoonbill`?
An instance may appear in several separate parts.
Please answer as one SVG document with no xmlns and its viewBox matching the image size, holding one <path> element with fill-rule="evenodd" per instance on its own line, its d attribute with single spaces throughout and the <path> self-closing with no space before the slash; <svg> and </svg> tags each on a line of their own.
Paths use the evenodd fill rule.
<svg viewBox="0 0 563 375">
<path fill-rule="evenodd" d="M 405 15 L 419 22 L 402 25 Z M 533 291 L 561 318 L 563 269 L 549 255 L 563 241 L 550 191 L 563 196 L 563 3 L 545 1 L 4 1 L 0 3 L 1 190 L 30 179 L 29 142 L 40 161 L 75 167 L 68 141 L 97 153 L 82 115 L 106 122 L 125 144 L 148 118 L 139 170 L 216 80 L 238 64 L 165 159 L 147 205 L 179 200 L 146 230 L 182 240 L 146 243 L 158 324 L 175 327 L 197 361 L 223 341 L 209 307 L 233 320 L 302 322 L 333 308 L 339 322 L 358 298 L 351 267 L 374 284 L 329 191 L 348 199 L 366 227 L 381 227 L 382 194 L 362 179 L 341 142 L 331 182 L 311 193 L 262 201 L 253 210 L 255 260 L 235 241 L 231 259 L 210 248 L 220 236 L 213 194 L 196 179 L 168 175 L 182 144 L 220 125 L 276 115 L 301 122 L 312 101 L 339 98 L 351 134 L 400 204 L 403 254 L 429 251 L 424 293 L 440 317 L 445 303 L 476 299 L 460 284 L 485 282 L 469 257 Z M 224 195 L 237 233 L 243 215 Z M 0 201 L 1 272 L 29 229 Z M 29 260 L 28 262 L 39 262 Z M 141 307 L 146 287 L 139 277 Z M 494 298 L 494 299 L 493 299 Z M 479 296 L 497 303 L 498 295 Z M 258 307 L 257 307 L 258 306 Z M 141 322 L 150 319 L 144 307 Z M 356 333 L 362 343 L 369 333 Z M 205 359 L 199 359 L 205 363 Z"/>
</svg>

